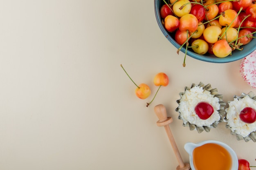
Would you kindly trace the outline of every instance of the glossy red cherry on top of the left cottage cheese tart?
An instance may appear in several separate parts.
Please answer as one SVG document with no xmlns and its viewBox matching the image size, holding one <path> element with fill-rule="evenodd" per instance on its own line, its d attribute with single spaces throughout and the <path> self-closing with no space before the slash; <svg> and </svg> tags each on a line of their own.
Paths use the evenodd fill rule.
<svg viewBox="0 0 256 170">
<path fill-rule="evenodd" d="M 213 114 L 213 107 L 207 102 L 199 102 L 195 106 L 195 113 L 200 119 L 206 120 Z"/>
</svg>

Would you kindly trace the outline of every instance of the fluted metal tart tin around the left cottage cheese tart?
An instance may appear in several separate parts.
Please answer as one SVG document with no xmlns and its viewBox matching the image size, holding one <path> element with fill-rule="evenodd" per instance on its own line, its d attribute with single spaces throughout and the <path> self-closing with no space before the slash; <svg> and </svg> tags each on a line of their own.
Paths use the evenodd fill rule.
<svg viewBox="0 0 256 170">
<path fill-rule="evenodd" d="M 197 84 L 192 84 L 191 87 L 185 87 L 185 91 L 186 90 L 190 90 L 191 88 L 193 88 L 194 86 L 199 86 L 199 87 L 202 87 L 204 91 L 209 91 L 214 97 L 218 97 L 219 99 L 219 104 L 220 104 L 220 110 L 218 110 L 218 113 L 220 115 L 220 120 L 219 121 L 215 121 L 213 122 L 213 124 L 209 125 L 209 126 L 197 126 L 195 124 L 191 124 L 189 123 L 188 121 L 184 124 L 184 120 L 182 119 L 182 117 L 180 117 L 180 111 L 179 111 L 179 106 L 175 109 L 175 111 L 177 111 L 179 113 L 179 117 L 178 119 L 181 119 L 183 120 L 183 126 L 189 126 L 189 129 L 190 130 L 197 130 L 198 133 L 201 133 L 203 132 L 204 130 L 206 132 L 209 132 L 211 130 L 211 128 L 216 128 L 218 126 L 218 124 L 220 122 L 223 122 L 224 121 L 224 117 L 225 117 L 225 106 L 226 106 L 226 103 L 223 102 L 223 95 L 220 95 L 218 94 L 218 90 L 217 88 L 212 88 L 211 87 L 211 84 L 207 84 L 207 85 L 204 85 L 202 82 L 200 82 L 198 85 Z M 180 99 L 178 99 L 176 102 L 180 105 L 180 100 L 181 100 L 181 97 L 182 95 L 184 95 L 184 92 L 180 92 L 179 95 L 180 95 Z"/>
</svg>

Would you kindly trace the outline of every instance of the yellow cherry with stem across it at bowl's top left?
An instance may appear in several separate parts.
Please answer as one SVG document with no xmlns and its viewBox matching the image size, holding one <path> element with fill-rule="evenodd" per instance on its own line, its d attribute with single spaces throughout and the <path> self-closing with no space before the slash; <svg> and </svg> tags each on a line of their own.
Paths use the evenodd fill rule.
<svg viewBox="0 0 256 170">
<path fill-rule="evenodd" d="M 180 9 L 182 7 L 182 9 Z M 173 4 L 173 13 L 177 17 L 182 17 L 190 13 L 191 10 L 191 3 L 189 0 L 179 0 Z"/>
</svg>

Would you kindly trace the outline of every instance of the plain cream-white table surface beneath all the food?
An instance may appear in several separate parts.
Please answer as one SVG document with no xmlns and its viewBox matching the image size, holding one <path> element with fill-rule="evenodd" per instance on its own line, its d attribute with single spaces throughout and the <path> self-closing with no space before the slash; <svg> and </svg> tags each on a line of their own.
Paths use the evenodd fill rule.
<svg viewBox="0 0 256 170">
<path fill-rule="evenodd" d="M 256 89 L 241 60 L 201 62 L 176 54 L 155 20 L 153 0 L 12 0 L 0 3 L 1 170 L 175 170 L 178 165 L 154 106 L 164 104 L 184 162 L 186 142 L 219 140 L 256 165 L 255 143 L 237 141 L 225 123 L 209 133 L 177 119 L 185 86 L 203 82 L 224 101 Z M 135 85 L 152 95 L 138 99 Z M 170 84 L 157 87 L 165 72 Z"/>
</svg>

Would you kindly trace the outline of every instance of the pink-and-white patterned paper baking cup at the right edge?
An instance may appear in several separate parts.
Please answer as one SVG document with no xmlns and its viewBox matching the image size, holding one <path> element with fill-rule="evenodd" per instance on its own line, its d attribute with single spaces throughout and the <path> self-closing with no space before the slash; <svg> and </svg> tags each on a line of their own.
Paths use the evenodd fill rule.
<svg viewBox="0 0 256 170">
<path fill-rule="evenodd" d="M 239 71 L 245 82 L 256 88 L 256 50 L 242 60 Z"/>
</svg>

